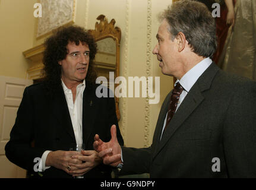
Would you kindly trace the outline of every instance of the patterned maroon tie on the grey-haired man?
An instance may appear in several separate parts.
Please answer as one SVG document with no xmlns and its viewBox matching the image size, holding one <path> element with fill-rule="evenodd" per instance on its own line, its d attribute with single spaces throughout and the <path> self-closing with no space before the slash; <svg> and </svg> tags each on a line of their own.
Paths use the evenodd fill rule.
<svg viewBox="0 0 256 190">
<path fill-rule="evenodd" d="M 170 96 L 170 105 L 167 113 L 165 129 L 166 129 L 166 126 L 170 123 L 170 119 L 172 119 L 175 113 L 175 110 L 177 108 L 178 101 L 179 101 L 179 96 L 181 96 L 182 91 L 183 91 L 183 87 L 181 86 L 181 84 L 177 83 L 172 91 L 172 96 Z"/>
</svg>

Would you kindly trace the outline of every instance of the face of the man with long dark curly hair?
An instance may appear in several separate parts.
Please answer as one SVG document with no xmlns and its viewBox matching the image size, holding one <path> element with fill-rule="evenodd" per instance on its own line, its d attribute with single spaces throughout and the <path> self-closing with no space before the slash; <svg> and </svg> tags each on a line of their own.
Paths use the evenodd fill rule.
<svg viewBox="0 0 256 190">
<path fill-rule="evenodd" d="M 61 78 L 65 84 L 72 84 L 75 82 L 81 83 L 89 67 L 90 49 L 87 44 L 79 45 L 69 42 L 67 45 L 68 54 L 65 59 L 59 61 L 61 65 Z"/>
</svg>

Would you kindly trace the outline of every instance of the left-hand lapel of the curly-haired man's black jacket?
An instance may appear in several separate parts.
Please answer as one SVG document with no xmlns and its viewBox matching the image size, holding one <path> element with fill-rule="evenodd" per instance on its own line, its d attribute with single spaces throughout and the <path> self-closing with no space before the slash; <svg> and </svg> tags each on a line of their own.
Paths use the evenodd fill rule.
<svg viewBox="0 0 256 190">
<path fill-rule="evenodd" d="M 71 118 L 69 115 L 67 100 L 62 88 L 62 85 L 59 85 L 56 93 L 52 99 L 52 110 L 55 118 L 59 121 L 61 130 L 67 131 L 69 136 L 72 138 L 72 141 L 75 143 L 75 134 L 72 126 Z"/>
</svg>

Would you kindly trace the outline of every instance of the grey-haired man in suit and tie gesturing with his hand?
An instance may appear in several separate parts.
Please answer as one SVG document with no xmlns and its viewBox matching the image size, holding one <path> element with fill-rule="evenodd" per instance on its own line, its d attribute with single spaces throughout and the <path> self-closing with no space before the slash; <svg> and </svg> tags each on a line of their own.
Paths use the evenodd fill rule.
<svg viewBox="0 0 256 190">
<path fill-rule="evenodd" d="M 256 177 L 256 83 L 227 74 L 211 61 L 216 27 L 207 7 L 178 1 L 162 14 L 153 49 L 165 75 L 176 77 L 148 148 L 121 147 L 116 139 L 94 148 L 119 174 L 151 178 Z"/>
</svg>

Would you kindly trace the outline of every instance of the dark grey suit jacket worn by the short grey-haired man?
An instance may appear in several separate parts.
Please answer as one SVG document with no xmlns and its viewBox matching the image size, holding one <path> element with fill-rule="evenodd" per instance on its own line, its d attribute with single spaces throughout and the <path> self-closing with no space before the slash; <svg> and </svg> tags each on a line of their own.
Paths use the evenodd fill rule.
<svg viewBox="0 0 256 190">
<path fill-rule="evenodd" d="M 151 147 L 122 147 L 120 175 L 256 177 L 255 82 L 226 74 L 211 64 L 179 106 L 160 141 L 170 95 L 160 110 Z M 214 172 L 216 157 L 220 172 Z"/>
</svg>

